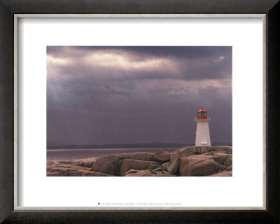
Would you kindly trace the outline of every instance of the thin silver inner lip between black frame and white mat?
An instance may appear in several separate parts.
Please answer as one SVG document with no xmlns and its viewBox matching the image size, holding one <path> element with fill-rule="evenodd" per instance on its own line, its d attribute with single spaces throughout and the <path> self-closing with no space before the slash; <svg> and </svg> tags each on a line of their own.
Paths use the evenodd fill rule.
<svg viewBox="0 0 280 224">
<path fill-rule="evenodd" d="M 18 20 L 20 18 L 262 18 L 262 27 L 264 34 L 266 34 L 266 15 L 265 14 L 15 14 L 14 15 L 14 110 L 18 111 Z M 265 99 L 266 99 L 266 69 L 265 69 L 265 49 L 266 40 L 263 36 L 263 138 L 265 143 Z M 265 210 L 266 209 L 266 146 L 262 147 L 263 153 L 263 207 L 19 207 L 18 206 L 18 113 L 15 112 L 14 116 L 14 210 L 15 211 L 91 211 L 91 210 L 127 210 L 127 211 L 138 211 L 138 210 L 171 210 L 171 211 L 197 211 L 197 210 Z"/>
</svg>

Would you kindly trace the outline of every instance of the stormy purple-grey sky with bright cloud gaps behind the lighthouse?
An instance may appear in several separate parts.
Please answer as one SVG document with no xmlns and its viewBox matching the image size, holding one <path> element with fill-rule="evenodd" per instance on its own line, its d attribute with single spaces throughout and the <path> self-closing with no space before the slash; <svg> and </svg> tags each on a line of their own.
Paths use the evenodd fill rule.
<svg viewBox="0 0 280 224">
<path fill-rule="evenodd" d="M 47 47 L 47 141 L 232 142 L 232 47 Z"/>
</svg>

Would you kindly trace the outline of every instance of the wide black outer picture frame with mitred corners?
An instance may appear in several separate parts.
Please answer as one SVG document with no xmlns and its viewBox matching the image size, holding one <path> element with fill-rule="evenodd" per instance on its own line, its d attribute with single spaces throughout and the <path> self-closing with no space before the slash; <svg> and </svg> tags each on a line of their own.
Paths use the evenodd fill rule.
<svg viewBox="0 0 280 224">
<path fill-rule="evenodd" d="M 13 15 L 76 13 L 225 13 L 267 15 L 266 211 L 14 211 Z M 3 223 L 280 223 L 279 0 L 0 0 L 0 222 Z M 248 172 L 248 171 L 244 171 Z M 249 172 L 248 172 L 249 173 Z M 246 184 L 246 183 L 244 183 Z"/>
</svg>

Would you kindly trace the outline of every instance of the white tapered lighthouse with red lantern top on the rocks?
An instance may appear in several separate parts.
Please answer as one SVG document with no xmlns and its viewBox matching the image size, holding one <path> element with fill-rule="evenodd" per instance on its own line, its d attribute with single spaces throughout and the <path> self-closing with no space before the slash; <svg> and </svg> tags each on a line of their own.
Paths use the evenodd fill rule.
<svg viewBox="0 0 280 224">
<path fill-rule="evenodd" d="M 207 111 L 203 109 L 197 111 L 197 133 L 195 138 L 195 146 L 211 146 L 209 121 L 211 119 L 207 116 Z"/>
</svg>

